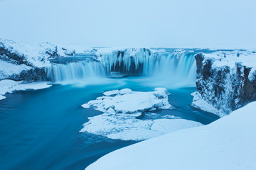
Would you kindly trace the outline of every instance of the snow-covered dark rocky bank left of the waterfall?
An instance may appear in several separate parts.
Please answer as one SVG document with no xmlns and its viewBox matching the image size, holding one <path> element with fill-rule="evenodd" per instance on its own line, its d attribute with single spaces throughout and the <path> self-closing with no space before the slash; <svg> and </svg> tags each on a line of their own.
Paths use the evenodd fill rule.
<svg viewBox="0 0 256 170">
<path fill-rule="evenodd" d="M 46 68 L 55 57 L 73 56 L 76 52 L 91 52 L 88 47 L 74 45 L 23 44 L 0 38 L 0 80 L 48 81 Z"/>
</svg>

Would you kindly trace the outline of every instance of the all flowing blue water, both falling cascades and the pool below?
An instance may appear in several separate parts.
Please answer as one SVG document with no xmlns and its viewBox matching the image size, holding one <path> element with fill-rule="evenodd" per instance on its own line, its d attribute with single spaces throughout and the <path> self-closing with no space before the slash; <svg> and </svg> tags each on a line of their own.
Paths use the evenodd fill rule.
<svg viewBox="0 0 256 170">
<path fill-rule="evenodd" d="M 175 109 L 158 114 L 203 124 L 218 119 L 191 108 L 190 94 L 196 91 L 196 62 L 193 52 L 181 53 L 163 52 L 159 60 L 144 63 L 142 74 L 120 78 L 110 78 L 107 70 L 111 68 L 94 61 L 92 56 L 53 61 L 53 67 L 48 68 L 52 87 L 16 91 L 0 101 L 0 169 L 85 169 L 103 155 L 135 143 L 79 132 L 88 117 L 101 114 L 81 105 L 102 96 L 103 91 L 152 91 L 163 86 L 171 93 L 169 102 Z M 142 67 L 139 63 L 134 65 L 137 69 Z"/>
</svg>

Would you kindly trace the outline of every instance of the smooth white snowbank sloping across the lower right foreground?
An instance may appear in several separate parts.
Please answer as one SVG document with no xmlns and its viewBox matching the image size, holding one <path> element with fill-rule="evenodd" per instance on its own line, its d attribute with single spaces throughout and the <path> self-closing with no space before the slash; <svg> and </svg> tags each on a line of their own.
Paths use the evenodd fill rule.
<svg viewBox="0 0 256 170">
<path fill-rule="evenodd" d="M 256 169 L 256 102 L 209 125 L 118 149 L 86 170 Z"/>
</svg>

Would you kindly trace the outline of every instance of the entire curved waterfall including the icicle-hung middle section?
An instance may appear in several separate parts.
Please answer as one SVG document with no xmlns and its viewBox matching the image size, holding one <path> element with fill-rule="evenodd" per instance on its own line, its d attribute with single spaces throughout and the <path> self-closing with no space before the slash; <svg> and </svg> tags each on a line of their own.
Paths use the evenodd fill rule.
<svg viewBox="0 0 256 170">
<path fill-rule="evenodd" d="M 95 81 L 115 73 L 143 74 L 149 85 L 195 86 L 196 52 L 171 50 L 166 52 L 145 48 L 128 48 L 95 54 L 95 60 L 53 63 L 48 77 L 54 82 Z M 118 77 L 118 74 L 117 74 Z M 93 80 L 92 80 L 93 79 Z M 102 79 L 102 81 L 104 81 Z"/>
</svg>

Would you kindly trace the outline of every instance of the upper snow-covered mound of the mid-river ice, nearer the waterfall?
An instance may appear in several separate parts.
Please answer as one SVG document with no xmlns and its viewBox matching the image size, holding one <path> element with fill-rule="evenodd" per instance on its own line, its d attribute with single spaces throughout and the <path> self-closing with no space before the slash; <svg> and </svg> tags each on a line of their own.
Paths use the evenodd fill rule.
<svg viewBox="0 0 256 170">
<path fill-rule="evenodd" d="M 95 107 L 95 110 L 107 112 L 112 108 L 116 113 L 135 113 L 138 111 L 154 111 L 156 108 L 172 108 L 168 102 L 168 92 L 164 88 L 156 88 L 154 92 L 139 92 L 130 89 L 107 91 L 96 100 L 89 101 L 87 105 Z M 162 94 L 161 94 L 162 93 Z M 156 97 L 154 94 L 161 94 Z M 113 96 L 114 95 L 114 96 Z"/>
</svg>

